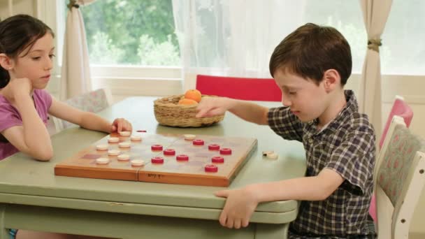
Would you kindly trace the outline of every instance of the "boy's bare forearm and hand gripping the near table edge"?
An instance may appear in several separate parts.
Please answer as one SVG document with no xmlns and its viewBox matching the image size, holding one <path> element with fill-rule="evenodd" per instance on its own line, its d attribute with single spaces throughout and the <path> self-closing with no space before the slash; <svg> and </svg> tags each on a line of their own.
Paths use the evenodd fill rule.
<svg viewBox="0 0 425 239">
<path fill-rule="evenodd" d="M 343 181 L 339 173 L 324 168 L 314 177 L 250 184 L 242 189 L 217 191 L 216 196 L 227 198 L 219 222 L 230 229 L 239 229 L 241 226 L 248 226 L 258 203 L 291 199 L 322 201 L 338 189 Z"/>
</svg>

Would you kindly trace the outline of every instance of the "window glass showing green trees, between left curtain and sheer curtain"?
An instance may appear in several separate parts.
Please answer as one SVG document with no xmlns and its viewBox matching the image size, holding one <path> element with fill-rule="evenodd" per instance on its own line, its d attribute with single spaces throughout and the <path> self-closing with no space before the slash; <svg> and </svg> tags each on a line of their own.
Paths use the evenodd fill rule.
<svg viewBox="0 0 425 239">
<path fill-rule="evenodd" d="M 95 1 L 80 10 L 91 64 L 180 66 L 171 0 Z"/>
</svg>

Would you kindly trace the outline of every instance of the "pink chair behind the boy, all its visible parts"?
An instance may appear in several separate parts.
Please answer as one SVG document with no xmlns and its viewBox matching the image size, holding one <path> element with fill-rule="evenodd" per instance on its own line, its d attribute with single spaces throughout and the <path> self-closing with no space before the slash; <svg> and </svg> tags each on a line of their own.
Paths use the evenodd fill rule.
<svg viewBox="0 0 425 239">
<path fill-rule="evenodd" d="M 389 124 L 391 124 L 391 120 L 393 119 L 394 115 L 403 117 L 406 126 L 410 126 L 410 122 L 412 122 L 413 111 L 412 108 L 410 108 L 410 106 L 408 105 L 408 103 L 404 101 L 402 96 L 396 96 L 396 100 L 394 101 L 393 107 L 391 108 L 391 112 L 389 113 L 387 123 L 385 124 L 384 131 L 382 132 L 382 136 L 380 139 L 380 149 L 384 144 L 384 139 L 385 136 L 387 136 Z M 370 201 L 369 215 L 370 217 L 372 217 L 373 221 L 376 222 L 375 196 L 373 196 L 372 201 Z"/>
</svg>

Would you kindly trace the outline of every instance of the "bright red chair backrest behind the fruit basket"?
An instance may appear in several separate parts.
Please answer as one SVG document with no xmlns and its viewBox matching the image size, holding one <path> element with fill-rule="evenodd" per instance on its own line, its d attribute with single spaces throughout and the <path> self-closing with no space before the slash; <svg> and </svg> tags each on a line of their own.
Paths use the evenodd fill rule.
<svg viewBox="0 0 425 239">
<path fill-rule="evenodd" d="M 267 78 L 236 78 L 196 75 L 196 89 L 202 94 L 225 96 L 251 101 L 282 101 L 282 92 L 275 80 Z"/>
</svg>

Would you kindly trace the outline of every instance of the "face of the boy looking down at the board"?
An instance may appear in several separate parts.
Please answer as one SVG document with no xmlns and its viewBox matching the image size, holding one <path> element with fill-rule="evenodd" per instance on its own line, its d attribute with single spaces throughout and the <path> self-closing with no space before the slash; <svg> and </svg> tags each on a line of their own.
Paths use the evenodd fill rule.
<svg viewBox="0 0 425 239">
<path fill-rule="evenodd" d="M 278 70 L 274 74 L 275 82 L 282 91 L 282 104 L 289 106 L 291 112 L 301 120 L 310 122 L 322 115 L 329 106 L 329 97 L 324 87 L 325 80 L 319 85 L 310 79 Z"/>
</svg>

